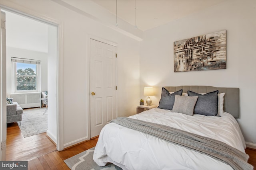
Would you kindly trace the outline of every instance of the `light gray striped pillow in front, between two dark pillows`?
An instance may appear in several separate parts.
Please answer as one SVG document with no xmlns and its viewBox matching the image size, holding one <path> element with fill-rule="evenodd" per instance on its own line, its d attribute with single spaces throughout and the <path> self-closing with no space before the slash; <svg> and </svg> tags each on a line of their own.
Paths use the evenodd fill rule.
<svg viewBox="0 0 256 170">
<path fill-rule="evenodd" d="M 184 113 L 186 115 L 193 115 L 194 107 L 198 96 L 178 96 L 175 95 L 175 102 L 172 112 Z"/>
</svg>

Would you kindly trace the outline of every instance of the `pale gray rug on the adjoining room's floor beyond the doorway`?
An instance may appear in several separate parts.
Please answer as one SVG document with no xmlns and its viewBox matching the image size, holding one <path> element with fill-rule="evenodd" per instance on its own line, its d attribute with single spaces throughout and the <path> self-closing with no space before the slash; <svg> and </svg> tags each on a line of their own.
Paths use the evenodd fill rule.
<svg viewBox="0 0 256 170">
<path fill-rule="evenodd" d="M 44 133 L 48 129 L 48 114 L 43 115 L 45 107 L 24 109 L 21 125 L 18 123 L 23 137 Z"/>
</svg>

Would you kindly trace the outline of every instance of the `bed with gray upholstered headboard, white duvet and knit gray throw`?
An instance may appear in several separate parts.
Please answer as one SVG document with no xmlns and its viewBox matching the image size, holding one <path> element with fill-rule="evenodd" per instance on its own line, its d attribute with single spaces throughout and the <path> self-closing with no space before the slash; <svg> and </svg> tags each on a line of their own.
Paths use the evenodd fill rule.
<svg viewBox="0 0 256 170">
<path fill-rule="evenodd" d="M 180 90 L 182 90 L 181 93 Z M 179 94 L 177 95 L 176 93 Z M 188 95 L 188 93 L 190 95 Z M 211 104 L 211 102 L 208 101 L 207 95 L 214 96 L 212 98 L 214 98 L 213 101 L 215 101 L 216 93 L 218 94 L 218 112 L 216 111 L 216 107 L 214 107 L 213 110 L 210 109 L 210 114 L 216 111 L 216 113 L 214 113 L 215 115 L 194 114 L 196 107 L 197 109 L 201 109 L 202 107 L 197 105 L 200 103 L 199 101 L 207 102 L 204 103 L 206 105 Z M 172 100 L 175 98 L 172 110 L 164 108 L 164 105 L 166 105 L 165 95 Z M 170 97 L 170 95 L 172 95 L 172 97 Z M 183 109 L 183 107 L 186 107 L 184 101 L 188 99 L 192 101 L 188 104 L 188 107 L 192 107 L 191 103 L 195 103 L 192 108 L 192 115 L 190 115 L 191 108 Z M 180 103 L 178 103 L 179 101 Z M 182 107 L 180 104 L 182 104 Z M 178 111 L 176 112 L 176 110 Z M 246 148 L 244 137 L 235 119 L 239 117 L 239 110 L 238 88 L 217 88 L 212 86 L 164 87 L 158 108 L 150 109 L 124 119 L 128 119 L 126 121 L 135 121 L 139 124 L 145 123 L 140 126 L 141 129 L 144 130 L 145 127 L 157 127 L 154 130 L 150 129 L 148 131 L 158 131 L 159 128 L 163 128 L 164 133 L 168 131 L 168 135 L 162 135 L 161 129 L 160 135 L 162 136 L 159 138 L 157 136 L 159 132 L 154 133 L 157 135 L 152 135 L 145 133 L 144 130 L 140 131 L 134 129 L 135 126 L 139 126 L 137 124 L 132 124 L 130 127 L 127 127 L 126 122 L 124 125 L 121 125 L 120 123 L 118 124 L 118 121 L 113 121 L 107 124 L 100 132 L 93 159 L 99 166 L 105 166 L 107 162 L 111 162 L 124 170 L 253 169 L 250 164 L 247 164 L 248 155 L 246 155 L 244 151 Z M 183 146 L 183 144 L 180 145 L 179 143 L 177 145 L 177 143 L 175 143 L 175 140 L 177 140 L 176 136 L 174 140 L 174 137 L 169 135 L 169 129 L 174 129 L 174 136 L 177 131 L 178 133 L 182 132 L 182 135 L 183 133 L 188 135 L 182 138 L 182 140 L 190 139 L 191 135 L 193 136 L 192 138 L 200 140 L 202 138 L 206 141 L 212 139 L 216 144 L 216 146 L 214 144 L 214 147 L 217 150 L 223 151 L 222 148 L 218 149 L 220 143 L 221 147 L 224 145 L 232 150 L 232 152 L 234 151 L 243 155 L 243 165 L 236 167 L 231 160 L 225 162 L 224 160 L 226 158 L 215 158 L 215 151 L 214 154 L 209 154 L 208 148 L 205 149 L 207 150 L 206 153 L 203 153 L 204 151 L 202 152 L 202 149 L 191 149 L 190 144 L 188 146 L 188 142 L 183 142 L 180 138 L 178 138 L 178 141 L 182 141 L 182 143 L 186 143 L 186 145 Z M 163 138 L 163 136 L 166 138 L 169 137 L 168 140 Z M 169 141 L 169 139 L 174 140 L 174 142 Z M 198 145 L 196 145 L 196 147 L 198 147 Z M 209 146 L 207 145 L 207 147 Z M 205 146 L 203 148 L 205 148 Z M 226 150 L 223 152 L 226 154 Z M 227 163 L 229 161 L 231 161 L 230 164 Z"/>
</svg>

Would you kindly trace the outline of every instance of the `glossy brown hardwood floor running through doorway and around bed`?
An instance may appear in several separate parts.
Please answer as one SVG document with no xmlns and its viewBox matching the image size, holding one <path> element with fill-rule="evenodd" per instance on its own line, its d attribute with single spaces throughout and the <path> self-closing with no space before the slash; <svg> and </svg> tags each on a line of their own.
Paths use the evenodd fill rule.
<svg viewBox="0 0 256 170">
<path fill-rule="evenodd" d="M 23 138 L 17 123 L 7 126 L 7 160 L 28 160 L 28 170 L 69 170 L 64 160 L 96 146 L 98 138 L 57 151 L 46 133 Z M 256 150 L 246 149 L 256 170 Z"/>
</svg>

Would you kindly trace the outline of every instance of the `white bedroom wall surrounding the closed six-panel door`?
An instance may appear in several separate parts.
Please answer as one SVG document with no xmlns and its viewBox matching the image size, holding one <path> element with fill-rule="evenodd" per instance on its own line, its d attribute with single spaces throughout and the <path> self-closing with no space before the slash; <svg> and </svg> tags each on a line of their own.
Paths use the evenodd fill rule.
<svg viewBox="0 0 256 170">
<path fill-rule="evenodd" d="M 63 23 L 64 147 L 88 139 L 88 35 L 118 44 L 119 115 L 136 113 L 140 84 L 138 41 L 50 0 L 1 0 L 0 4 Z"/>
</svg>

